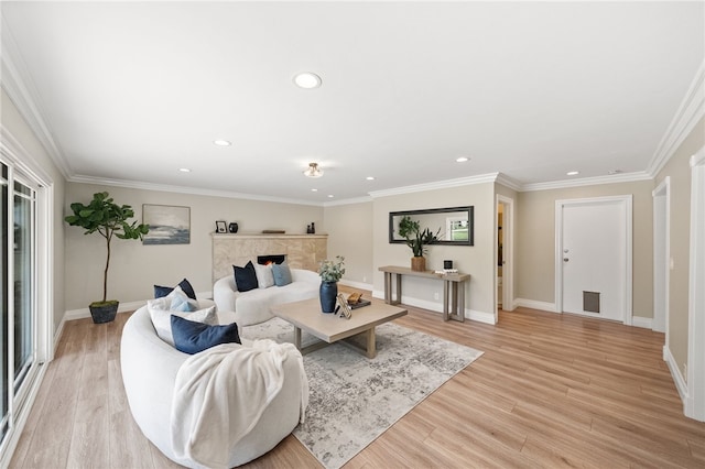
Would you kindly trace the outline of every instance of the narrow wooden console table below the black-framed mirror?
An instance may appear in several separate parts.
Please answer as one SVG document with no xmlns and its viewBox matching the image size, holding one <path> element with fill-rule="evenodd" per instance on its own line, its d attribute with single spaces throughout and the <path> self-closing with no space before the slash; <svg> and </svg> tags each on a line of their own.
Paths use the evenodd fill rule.
<svg viewBox="0 0 705 469">
<path fill-rule="evenodd" d="M 443 281 L 443 320 L 455 319 L 465 321 L 465 282 L 469 274 L 453 273 L 437 274 L 434 271 L 412 271 L 409 268 L 386 265 L 379 268 L 384 272 L 384 302 L 390 305 L 401 303 L 401 276 L 412 275 Z M 392 298 L 392 276 L 397 277 L 397 298 Z"/>
</svg>

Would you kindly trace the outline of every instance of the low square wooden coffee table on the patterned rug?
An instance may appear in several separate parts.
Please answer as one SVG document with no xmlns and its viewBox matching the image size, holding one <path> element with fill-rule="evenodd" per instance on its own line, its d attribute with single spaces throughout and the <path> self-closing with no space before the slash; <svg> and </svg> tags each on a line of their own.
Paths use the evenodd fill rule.
<svg viewBox="0 0 705 469">
<path fill-rule="evenodd" d="M 362 352 L 367 358 L 375 358 L 377 356 L 375 327 L 405 316 L 406 309 L 372 299 L 369 306 L 352 309 L 352 317 L 345 319 L 335 314 L 322 313 L 321 301 L 312 298 L 272 306 L 272 313 L 294 326 L 294 345 L 302 355 L 348 339 L 343 340 L 341 343 Z M 302 348 L 302 330 L 323 341 Z M 362 338 L 362 345 L 355 340 L 357 338 Z"/>
</svg>

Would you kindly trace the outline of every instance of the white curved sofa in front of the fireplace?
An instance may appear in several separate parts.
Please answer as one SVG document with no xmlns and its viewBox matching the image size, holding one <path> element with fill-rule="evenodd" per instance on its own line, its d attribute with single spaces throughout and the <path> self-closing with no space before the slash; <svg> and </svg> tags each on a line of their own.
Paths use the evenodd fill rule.
<svg viewBox="0 0 705 469">
<path fill-rule="evenodd" d="M 234 275 L 219 279 L 213 285 L 213 299 L 218 307 L 218 314 L 234 317 L 239 326 L 249 326 L 271 319 L 272 305 L 318 296 L 321 276 L 316 272 L 291 269 L 291 276 L 292 283 L 289 285 L 248 292 L 238 292 Z"/>
</svg>

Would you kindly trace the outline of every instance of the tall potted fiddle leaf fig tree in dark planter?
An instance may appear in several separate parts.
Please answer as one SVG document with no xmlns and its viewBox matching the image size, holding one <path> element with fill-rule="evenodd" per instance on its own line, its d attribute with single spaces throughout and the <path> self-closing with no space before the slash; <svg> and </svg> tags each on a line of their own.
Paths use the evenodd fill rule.
<svg viewBox="0 0 705 469">
<path fill-rule="evenodd" d="M 119 239 L 139 239 L 150 230 L 148 225 L 130 222 L 134 211 L 129 205 L 118 205 L 108 193 L 96 193 L 88 205 L 74 203 L 70 205 L 73 215 L 64 220 L 72 227 L 80 227 L 84 234 L 98 233 L 106 240 L 106 266 L 102 273 L 102 299 L 89 305 L 90 316 L 95 324 L 110 323 L 118 313 L 119 302 L 108 297 L 108 269 L 110 268 L 110 243 L 113 237 Z"/>
</svg>

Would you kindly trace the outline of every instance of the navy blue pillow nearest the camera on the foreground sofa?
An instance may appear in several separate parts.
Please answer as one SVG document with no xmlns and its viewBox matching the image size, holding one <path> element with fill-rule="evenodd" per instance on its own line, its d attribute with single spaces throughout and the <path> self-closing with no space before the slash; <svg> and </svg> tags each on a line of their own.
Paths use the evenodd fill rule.
<svg viewBox="0 0 705 469">
<path fill-rule="evenodd" d="M 236 323 L 209 326 L 172 315 L 174 347 L 184 353 L 198 353 L 220 343 L 241 343 Z"/>
</svg>

